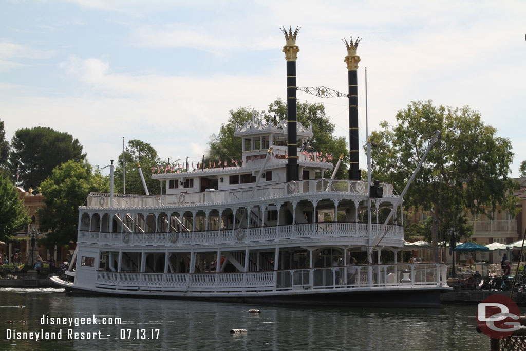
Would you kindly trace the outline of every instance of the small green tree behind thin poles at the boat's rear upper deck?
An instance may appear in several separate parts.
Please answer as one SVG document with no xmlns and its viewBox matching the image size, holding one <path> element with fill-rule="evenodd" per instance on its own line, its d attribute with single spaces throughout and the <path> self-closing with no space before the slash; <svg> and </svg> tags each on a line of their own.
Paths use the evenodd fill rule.
<svg viewBox="0 0 526 351">
<path fill-rule="evenodd" d="M 151 179 L 151 167 L 161 164 L 157 151 L 150 144 L 137 139 L 131 139 L 126 147 L 126 194 L 146 194 L 143 182 L 140 180 L 137 163 L 143 170 L 144 179 L 150 194 L 160 193 L 159 180 Z M 123 193 L 123 154 L 120 153 L 114 174 L 115 192 Z"/>
</svg>

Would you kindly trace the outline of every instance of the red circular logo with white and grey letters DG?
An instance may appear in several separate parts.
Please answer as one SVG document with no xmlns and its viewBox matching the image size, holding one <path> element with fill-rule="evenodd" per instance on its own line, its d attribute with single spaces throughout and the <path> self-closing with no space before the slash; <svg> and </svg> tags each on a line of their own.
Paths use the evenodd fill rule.
<svg viewBox="0 0 526 351">
<path fill-rule="evenodd" d="M 477 325 L 491 338 L 508 337 L 520 328 L 519 307 L 508 296 L 492 295 L 478 305 Z"/>
</svg>

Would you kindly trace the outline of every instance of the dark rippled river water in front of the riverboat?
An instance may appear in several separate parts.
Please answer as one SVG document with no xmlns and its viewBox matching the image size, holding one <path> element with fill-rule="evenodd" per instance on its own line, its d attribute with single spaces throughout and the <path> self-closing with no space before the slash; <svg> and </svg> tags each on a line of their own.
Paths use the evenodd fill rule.
<svg viewBox="0 0 526 351">
<path fill-rule="evenodd" d="M 261 309 L 261 314 L 249 314 L 248 310 L 252 308 Z M 476 305 L 446 305 L 438 309 L 254 306 L 73 296 L 63 293 L 62 289 L 52 288 L 4 288 L 0 289 L 0 349 L 489 349 L 489 338 L 475 330 L 476 308 Z M 41 324 L 43 315 L 53 318 L 95 315 L 99 324 L 46 325 Z M 102 325 L 104 317 L 122 318 L 122 323 Z M 5 320 L 14 320 L 14 324 L 6 324 Z M 27 322 L 23 324 L 20 320 Z M 248 333 L 230 334 L 235 328 L 247 329 Z M 6 340 L 7 329 L 14 329 L 17 333 L 39 332 L 41 329 L 58 333 L 62 329 L 62 339 Z M 68 339 L 68 329 L 72 329 L 72 333 L 98 333 L 100 330 L 103 339 L 98 339 L 98 336 L 96 339 Z M 144 334 L 141 329 L 145 329 Z"/>
</svg>

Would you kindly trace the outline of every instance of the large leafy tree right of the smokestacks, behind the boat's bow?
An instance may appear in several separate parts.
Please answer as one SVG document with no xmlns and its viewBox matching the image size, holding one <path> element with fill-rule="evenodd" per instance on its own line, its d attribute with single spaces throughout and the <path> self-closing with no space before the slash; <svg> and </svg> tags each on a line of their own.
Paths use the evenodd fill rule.
<svg viewBox="0 0 526 351">
<path fill-rule="evenodd" d="M 513 159 L 509 139 L 497 137 L 480 114 L 469 107 L 433 106 L 431 101 L 412 102 L 396 115 L 398 124 L 381 123 L 371 134 L 373 178 L 393 183 L 398 192 L 409 180 L 426 151 L 434 131 L 439 143 L 423 163 L 409 188 L 404 204 L 430 211 L 433 259 L 438 260 L 438 236 L 449 240 L 451 230 L 471 234 L 467 214 L 492 214 L 500 204 L 517 213 L 517 187 L 508 178 Z M 459 236 L 456 239 L 459 239 Z"/>
</svg>

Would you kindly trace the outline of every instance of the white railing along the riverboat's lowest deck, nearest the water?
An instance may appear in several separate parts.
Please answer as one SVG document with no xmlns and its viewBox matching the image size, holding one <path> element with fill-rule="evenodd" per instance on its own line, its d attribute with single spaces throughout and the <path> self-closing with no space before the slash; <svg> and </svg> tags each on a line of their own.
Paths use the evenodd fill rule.
<svg viewBox="0 0 526 351">
<path fill-rule="evenodd" d="M 442 287 L 446 265 L 390 264 L 247 273 L 115 273 L 97 271 L 96 286 L 185 292 L 288 291 L 334 288 Z"/>
</svg>

